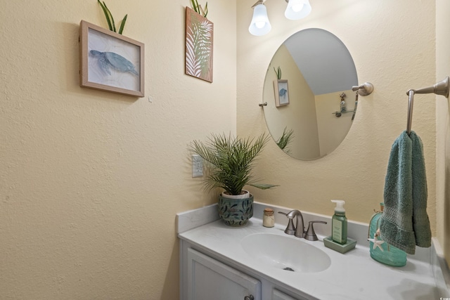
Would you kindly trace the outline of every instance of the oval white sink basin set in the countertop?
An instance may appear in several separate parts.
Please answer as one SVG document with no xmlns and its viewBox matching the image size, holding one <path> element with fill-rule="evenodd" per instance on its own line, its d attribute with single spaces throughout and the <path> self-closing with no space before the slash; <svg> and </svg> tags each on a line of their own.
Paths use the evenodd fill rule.
<svg viewBox="0 0 450 300">
<path fill-rule="evenodd" d="M 252 259 L 286 272 L 321 272 L 331 263 L 328 254 L 293 235 L 255 233 L 240 244 Z"/>
</svg>

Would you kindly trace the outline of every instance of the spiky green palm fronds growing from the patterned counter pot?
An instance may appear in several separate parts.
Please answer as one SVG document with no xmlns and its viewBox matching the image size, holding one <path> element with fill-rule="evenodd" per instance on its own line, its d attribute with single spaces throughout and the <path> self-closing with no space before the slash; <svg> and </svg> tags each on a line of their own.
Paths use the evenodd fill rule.
<svg viewBox="0 0 450 300">
<path fill-rule="evenodd" d="M 240 195 L 245 185 L 262 189 L 276 186 L 253 182 L 255 158 L 268 141 L 269 136 L 264 133 L 252 139 L 212 134 L 206 143 L 193 141 L 191 151 L 205 159 L 210 167 L 210 174 L 204 181 L 205 188 L 223 188 L 226 194 Z"/>
</svg>

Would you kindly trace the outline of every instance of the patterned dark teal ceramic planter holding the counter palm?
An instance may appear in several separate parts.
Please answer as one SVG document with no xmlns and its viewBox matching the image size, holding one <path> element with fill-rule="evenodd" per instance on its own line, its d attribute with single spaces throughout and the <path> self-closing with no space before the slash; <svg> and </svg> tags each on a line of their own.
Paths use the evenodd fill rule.
<svg viewBox="0 0 450 300">
<path fill-rule="evenodd" d="M 245 226 L 248 219 L 253 216 L 253 195 L 247 193 L 245 197 L 242 197 L 242 195 L 230 196 L 221 193 L 218 209 L 220 219 L 224 220 L 226 225 Z"/>
</svg>

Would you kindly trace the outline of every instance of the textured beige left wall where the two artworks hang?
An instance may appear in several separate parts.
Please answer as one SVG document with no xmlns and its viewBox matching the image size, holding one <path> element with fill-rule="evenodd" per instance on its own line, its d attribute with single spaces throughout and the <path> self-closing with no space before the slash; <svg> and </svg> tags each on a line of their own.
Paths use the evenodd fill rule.
<svg viewBox="0 0 450 300">
<path fill-rule="evenodd" d="M 175 214 L 214 202 L 186 145 L 236 132 L 236 3 L 208 4 L 210 84 L 184 75 L 190 1 L 105 2 L 146 45 L 145 98 L 79 87 L 96 0 L 2 1 L 1 299 L 178 299 Z"/>
</svg>

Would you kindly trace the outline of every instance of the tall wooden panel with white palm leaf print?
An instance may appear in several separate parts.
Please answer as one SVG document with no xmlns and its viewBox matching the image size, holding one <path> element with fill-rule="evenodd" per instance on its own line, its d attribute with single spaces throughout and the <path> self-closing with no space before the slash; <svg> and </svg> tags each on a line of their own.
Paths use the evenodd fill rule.
<svg viewBox="0 0 450 300">
<path fill-rule="evenodd" d="M 186 7 L 186 74 L 212 82 L 212 37 L 210 20 Z"/>
</svg>

